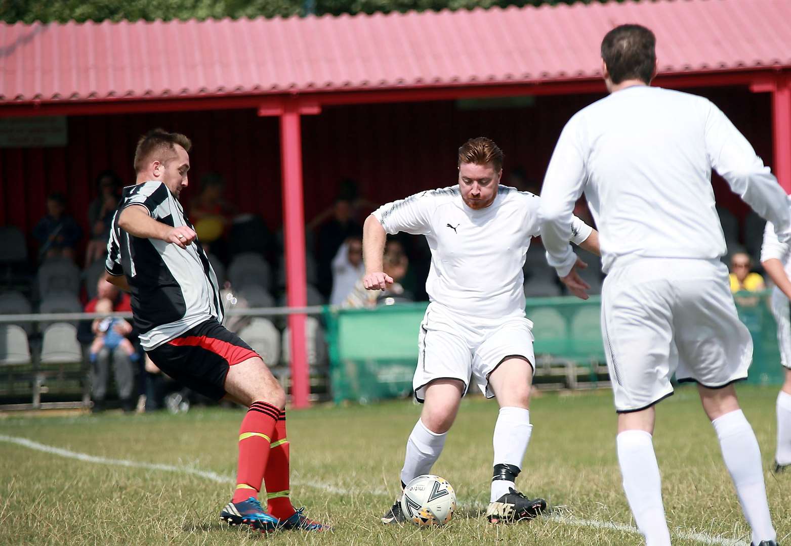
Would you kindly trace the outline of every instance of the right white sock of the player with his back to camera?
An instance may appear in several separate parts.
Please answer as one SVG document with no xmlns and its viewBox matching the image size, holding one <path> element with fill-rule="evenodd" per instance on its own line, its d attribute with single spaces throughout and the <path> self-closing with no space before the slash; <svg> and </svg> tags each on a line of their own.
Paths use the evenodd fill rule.
<svg viewBox="0 0 791 546">
<path fill-rule="evenodd" d="M 736 486 L 744 518 L 752 529 L 752 541 L 759 544 L 762 540 L 776 540 L 766 503 L 761 450 L 752 427 L 740 409 L 717 417 L 711 424 L 720 439 L 722 458 Z"/>
</svg>

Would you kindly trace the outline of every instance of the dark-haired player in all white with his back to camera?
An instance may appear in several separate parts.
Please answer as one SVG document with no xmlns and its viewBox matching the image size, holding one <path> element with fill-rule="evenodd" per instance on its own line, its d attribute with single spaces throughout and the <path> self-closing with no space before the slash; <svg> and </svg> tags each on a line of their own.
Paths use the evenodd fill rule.
<svg viewBox="0 0 791 546">
<path fill-rule="evenodd" d="M 751 145 L 709 100 L 649 87 L 653 33 L 636 24 L 607 33 L 602 73 L 610 95 L 570 119 L 542 191 L 547 258 L 579 288 L 567 238 L 585 191 L 600 231 L 602 334 L 619 412 L 626 498 L 649 546 L 670 544 L 653 450 L 654 405 L 679 381 L 698 383 L 754 544 L 775 544 L 761 454 L 732 382 L 747 377 L 752 343 L 736 315 L 711 169 L 791 238 L 785 192 Z"/>
</svg>

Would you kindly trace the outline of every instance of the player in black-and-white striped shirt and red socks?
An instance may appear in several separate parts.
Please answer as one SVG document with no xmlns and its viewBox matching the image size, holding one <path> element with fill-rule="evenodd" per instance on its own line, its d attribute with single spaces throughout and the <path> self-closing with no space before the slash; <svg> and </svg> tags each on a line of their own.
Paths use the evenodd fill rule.
<svg viewBox="0 0 791 546">
<path fill-rule="evenodd" d="M 220 518 L 253 529 L 327 529 L 294 510 L 289 488 L 286 393 L 261 357 L 221 326 L 217 277 L 179 201 L 191 142 L 149 131 L 134 153 L 137 181 L 123 190 L 108 242 L 107 280 L 131 292 L 149 358 L 206 397 L 248 408 L 239 431 L 237 487 Z M 259 503 L 262 480 L 267 510 Z"/>
</svg>

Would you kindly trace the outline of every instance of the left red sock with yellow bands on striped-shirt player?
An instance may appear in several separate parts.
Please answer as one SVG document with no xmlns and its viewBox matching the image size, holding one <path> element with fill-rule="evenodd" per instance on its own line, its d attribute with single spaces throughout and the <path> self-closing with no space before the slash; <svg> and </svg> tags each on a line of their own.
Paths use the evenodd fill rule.
<svg viewBox="0 0 791 546">
<path fill-rule="evenodd" d="M 244 416 L 239 428 L 239 469 L 232 503 L 258 497 L 263 470 L 267 468 L 269 443 L 274 435 L 274 425 L 279 415 L 280 409 L 274 405 L 255 401 Z"/>
</svg>

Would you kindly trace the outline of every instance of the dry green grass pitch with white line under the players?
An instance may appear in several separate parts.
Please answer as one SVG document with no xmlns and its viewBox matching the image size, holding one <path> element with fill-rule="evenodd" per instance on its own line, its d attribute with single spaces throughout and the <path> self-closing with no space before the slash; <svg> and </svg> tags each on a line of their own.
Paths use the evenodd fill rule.
<svg viewBox="0 0 791 546">
<path fill-rule="evenodd" d="M 776 396 L 775 389 L 740 389 L 767 469 L 774 454 Z M 452 522 L 438 529 L 381 525 L 380 515 L 399 487 L 404 443 L 419 411 L 411 402 L 394 401 L 289 412 L 294 503 L 308 506 L 310 517 L 335 530 L 269 537 L 218 521 L 233 484 L 241 410 L 5 416 L 0 418 L 0 544 L 643 544 L 627 528 L 632 521 L 615 457 L 608 391 L 544 394 L 532 401 L 535 427 L 517 485 L 546 498 L 554 507 L 552 517 L 509 526 L 483 519 L 498 408 L 478 397 L 464 401 L 433 470 L 456 488 L 460 509 Z M 749 544 L 694 388 L 676 390 L 657 413 L 654 445 L 674 544 Z M 8 437 L 68 452 L 47 453 Z M 94 458 L 63 456 L 71 452 Z M 139 468 L 141 463 L 161 466 Z M 791 475 L 767 471 L 766 488 L 782 544 L 791 535 Z"/>
</svg>

